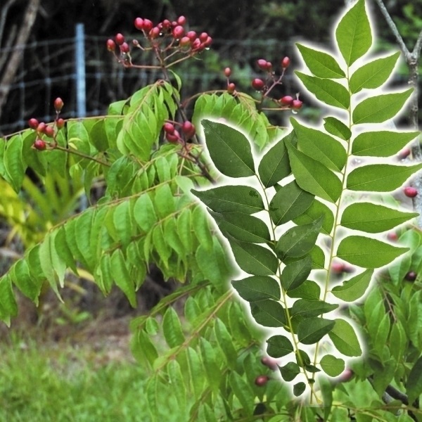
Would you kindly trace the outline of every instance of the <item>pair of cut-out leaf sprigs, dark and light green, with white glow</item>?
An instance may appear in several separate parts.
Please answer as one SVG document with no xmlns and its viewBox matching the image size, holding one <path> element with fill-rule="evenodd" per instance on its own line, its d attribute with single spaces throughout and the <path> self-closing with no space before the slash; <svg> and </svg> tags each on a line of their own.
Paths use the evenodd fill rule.
<svg viewBox="0 0 422 422">
<path fill-rule="evenodd" d="M 380 124 L 402 110 L 412 90 L 380 90 L 399 54 L 371 58 L 372 43 L 365 2 L 358 0 L 335 29 L 333 56 L 297 44 L 309 72 L 296 75 L 328 106 L 324 129 L 292 117 L 290 133 L 254 157 L 250 140 L 234 127 L 202 120 L 215 167 L 240 181 L 192 192 L 248 274 L 231 284 L 257 324 L 272 328 L 267 353 L 281 358 L 281 377 L 293 394 L 308 392 L 311 402 L 319 401 L 317 373 L 338 376 L 347 359 L 362 354 L 339 305 L 362 298 L 374 271 L 409 250 L 383 241 L 383 232 L 417 215 L 371 199 L 371 192 L 395 191 L 422 168 L 390 160 L 418 132 Z M 356 165 L 362 156 L 376 160 Z M 334 260 L 352 265 L 343 282 L 333 281 Z"/>
</svg>

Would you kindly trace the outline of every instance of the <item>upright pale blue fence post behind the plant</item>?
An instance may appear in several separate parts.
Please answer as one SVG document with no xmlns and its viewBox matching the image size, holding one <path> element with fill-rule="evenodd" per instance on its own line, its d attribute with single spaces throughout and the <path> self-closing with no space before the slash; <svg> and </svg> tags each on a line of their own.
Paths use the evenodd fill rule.
<svg viewBox="0 0 422 422">
<path fill-rule="evenodd" d="M 85 85 L 85 29 L 83 23 L 76 25 L 75 71 L 76 71 L 76 113 L 77 117 L 87 115 L 87 92 Z"/>
</svg>

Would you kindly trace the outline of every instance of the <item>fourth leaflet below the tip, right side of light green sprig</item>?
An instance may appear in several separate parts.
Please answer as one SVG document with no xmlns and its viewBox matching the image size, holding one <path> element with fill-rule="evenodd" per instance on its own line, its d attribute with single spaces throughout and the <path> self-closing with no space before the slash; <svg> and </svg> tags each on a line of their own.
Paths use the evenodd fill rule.
<svg viewBox="0 0 422 422">
<path fill-rule="evenodd" d="M 417 165 L 373 164 L 352 170 L 347 176 L 351 191 L 390 192 L 404 184 L 412 174 L 422 169 Z"/>
</svg>

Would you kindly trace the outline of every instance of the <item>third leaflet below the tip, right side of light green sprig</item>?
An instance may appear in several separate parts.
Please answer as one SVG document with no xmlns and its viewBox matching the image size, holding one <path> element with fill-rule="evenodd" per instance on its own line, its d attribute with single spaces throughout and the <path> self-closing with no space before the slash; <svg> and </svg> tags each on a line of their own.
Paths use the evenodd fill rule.
<svg viewBox="0 0 422 422">
<path fill-rule="evenodd" d="M 399 152 L 407 143 L 416 138 L 419 132 L 362 132 L 352 144 L 352 154 L 369 157 L 390 157 Z"/>
</svg>

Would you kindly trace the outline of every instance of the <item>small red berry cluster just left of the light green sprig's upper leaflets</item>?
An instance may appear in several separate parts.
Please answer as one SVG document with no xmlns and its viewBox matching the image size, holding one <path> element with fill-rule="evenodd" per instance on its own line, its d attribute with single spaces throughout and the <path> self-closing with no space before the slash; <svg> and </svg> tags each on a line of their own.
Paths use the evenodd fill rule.
<svg viewBox="0 0 422 422">
<path fill-rule="evenodd" d="M 255 77 L 252 79 L 251 85 L 255 91 L 259 91 L 262 94 L 262 100 L 264 98 L 270 98 L 269 94 L 274 89 L 274 87 L 283 83 L 282 79 L 289 65 L 290 58 L 286 56 L 281 60 L 280 63 L 281 74 L 276 75 L 271 62 L 265 60 L 264 58 L 257 60 L 257 67 L 265 72 L 265 75 L 264 77 Z M 279 99 L 271 98 L 271 100 L 277 103 L 278 106 L 281 106 L 281 108 L 290 108 L 291 110 L 299 110 L 302 108 L 303 104 L 302 101 L 300 101 L 298 94 L 296 94 L 296 98 L 293 98 L 293 96 L 290 95 L 286 95 Z"/>
</svg>

